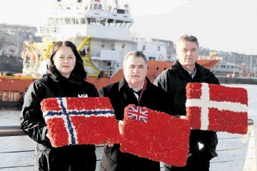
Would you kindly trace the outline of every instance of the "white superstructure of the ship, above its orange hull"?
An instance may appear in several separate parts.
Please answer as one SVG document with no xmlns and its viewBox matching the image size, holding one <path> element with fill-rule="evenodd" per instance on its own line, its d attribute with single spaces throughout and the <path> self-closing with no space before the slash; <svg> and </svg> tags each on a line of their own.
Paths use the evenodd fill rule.
<svg viewBox="0 0 257 171">
<path fill-rule="evenodd" d="M 46 26 L 39 27 L 36 36 L 51 41 L 69 40 L 76 46 L 90 36 L 90 45 L 80 49 L 81 56 L 90 52 L 92 65 L 85 67 L 89 76 L 101 71 L 111 76 L 121 68 L 129 51 L 143 51 L 148 60 L 171 60 L 167 58 L 167 43 L 132 35 L 130 11 L 131 5 L 126 1 L 57 0 Z"/>
</svg>

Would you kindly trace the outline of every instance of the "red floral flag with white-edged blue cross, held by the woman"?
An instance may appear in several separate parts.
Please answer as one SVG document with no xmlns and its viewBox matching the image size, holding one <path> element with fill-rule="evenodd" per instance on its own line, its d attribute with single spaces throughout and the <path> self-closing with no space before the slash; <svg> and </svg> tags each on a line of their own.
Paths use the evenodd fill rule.
<svg viewBox="0 0 257 171">
<path fill-rule="evenodd" d="M 46 98 L 41 110 L 53 147 L 121 140 L 109 98 Z"/>
</svg>

